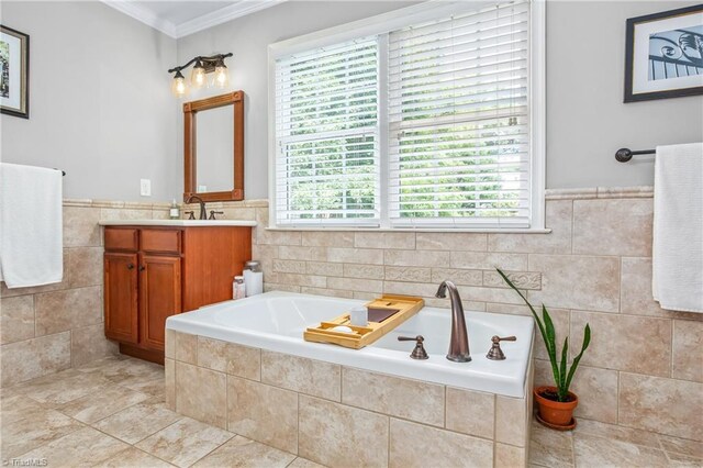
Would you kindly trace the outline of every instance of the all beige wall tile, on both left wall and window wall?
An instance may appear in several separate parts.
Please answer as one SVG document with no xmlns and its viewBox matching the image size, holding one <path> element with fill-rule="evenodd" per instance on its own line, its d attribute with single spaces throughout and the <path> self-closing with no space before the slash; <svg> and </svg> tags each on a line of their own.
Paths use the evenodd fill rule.
<svg viewBox="0 0 703 468">
<path fill-rule="evenodd" d="M 703 314 L 668 311 L 651 299 L 650 188 L 550 190 L 550 234 L 312 232 L 267 230 L 266 200 L 209 203 L 226 219 L 256 220 L 254 257 L 266 290 L 371 299 L 422 296 L 454 280 L 467 311 L 528 314 L 495 275 L 510 271 L 531 301 L 550 310 L 560 342 L 591 348 L 577 372 L 577 415 L 703 439 L 703 420 L 679 408 L 703 406 Z M 102 323 L 102 219 L 155 219 L 167 204 L 65 201 L 64 281 L 8 290 L 2 285 L 2 386 L 116 352 Z M 470 313 L 470 312 L 469 312 Z M 448 333 L 448 331 L 447 331 Z M 536 337 L 535 382 L 550 367 Z M 490 344 L 471 343 L 475 355 Z"/>
</svg>

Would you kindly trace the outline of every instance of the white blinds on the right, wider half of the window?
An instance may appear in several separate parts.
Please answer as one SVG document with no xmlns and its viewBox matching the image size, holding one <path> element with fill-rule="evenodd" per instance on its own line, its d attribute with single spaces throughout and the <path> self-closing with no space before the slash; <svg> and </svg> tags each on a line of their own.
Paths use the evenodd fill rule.
<svg viewBox="0 0 703 468">
<path fill-rule="evenodd" d="M 389 35 L 392 225 L 528 227 L 529 4 Z"/>
</svg>

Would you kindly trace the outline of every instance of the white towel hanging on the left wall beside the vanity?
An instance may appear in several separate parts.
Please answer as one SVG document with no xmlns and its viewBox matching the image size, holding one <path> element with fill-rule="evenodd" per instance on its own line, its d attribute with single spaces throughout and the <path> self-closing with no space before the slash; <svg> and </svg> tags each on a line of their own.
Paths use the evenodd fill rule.
<svg viewBox="0 0 703 468">
<path fill-rule="evenodd" d="M 0 164 L 0 279 L 8 288 L 64 276 L 62 171 Z"/>
</svg>

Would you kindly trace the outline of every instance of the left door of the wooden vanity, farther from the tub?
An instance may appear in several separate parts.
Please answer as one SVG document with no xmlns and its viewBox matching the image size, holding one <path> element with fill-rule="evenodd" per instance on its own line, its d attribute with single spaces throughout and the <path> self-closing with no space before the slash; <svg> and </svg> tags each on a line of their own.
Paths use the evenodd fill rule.
<svg viewBox="0 0 703 468">
<path fill-rule="evenodd" d="M 104 255 L 105 336 L 122 343 L 138 341 L 136 254 Z"/>
</svg>

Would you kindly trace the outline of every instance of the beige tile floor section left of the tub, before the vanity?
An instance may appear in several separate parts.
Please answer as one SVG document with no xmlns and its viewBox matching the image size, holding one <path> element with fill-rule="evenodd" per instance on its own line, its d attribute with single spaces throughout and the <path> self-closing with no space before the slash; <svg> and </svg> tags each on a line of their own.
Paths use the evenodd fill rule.
<svg viewBox="0 0 703 468">
<path fill-rule="evenodd" d="M 168 410 L 164 368 L 127 357 L 2 389 L 0 419 L 4 466 L 319 466 Z"/>
</svg>

